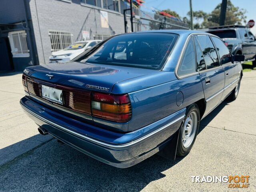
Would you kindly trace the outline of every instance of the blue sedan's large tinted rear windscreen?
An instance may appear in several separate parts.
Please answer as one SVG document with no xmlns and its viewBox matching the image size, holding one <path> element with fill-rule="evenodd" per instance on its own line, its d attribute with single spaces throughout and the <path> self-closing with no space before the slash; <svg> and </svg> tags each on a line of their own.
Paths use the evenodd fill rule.
<svg viewBox="0 0 256 192">
<path fill-rule="evenodd" d="M 160 69 L 177 34 L 137 33 L 115 36 L 81 62 Z"/>
</svg>

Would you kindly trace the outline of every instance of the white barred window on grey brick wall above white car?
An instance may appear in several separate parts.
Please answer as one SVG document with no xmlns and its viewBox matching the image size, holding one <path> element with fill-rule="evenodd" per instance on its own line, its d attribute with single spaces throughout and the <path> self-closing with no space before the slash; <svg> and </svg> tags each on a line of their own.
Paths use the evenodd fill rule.
<svg viewBox="0 0 256 192">
<path fill-rule="evenodd" d="M 51 51 L 58 51 L 72 44 L 72 34 L 70 32 L 50 30 Z"/>
</svg>

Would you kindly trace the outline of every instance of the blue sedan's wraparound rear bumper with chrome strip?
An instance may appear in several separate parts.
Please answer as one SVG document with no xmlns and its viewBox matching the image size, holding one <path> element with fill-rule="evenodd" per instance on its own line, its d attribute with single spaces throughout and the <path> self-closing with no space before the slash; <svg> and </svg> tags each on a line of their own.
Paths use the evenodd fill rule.
<svg viewBox="0 0 256 192">
<path fill-rule="evenodd" d="M 180 127 L 186 112 L 184 108 L 139 130 L 116 133 L 58 114 L 27 96 L 20 104 L 36 124 L 55 138 L 118 168 L 133 166 L 164 148 Z"/>
</svg>

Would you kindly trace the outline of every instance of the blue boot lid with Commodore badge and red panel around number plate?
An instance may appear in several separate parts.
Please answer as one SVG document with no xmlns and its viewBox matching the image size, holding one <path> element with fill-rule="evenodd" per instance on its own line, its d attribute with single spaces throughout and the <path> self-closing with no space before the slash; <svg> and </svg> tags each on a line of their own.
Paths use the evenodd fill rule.
<svg viewBox="0 0 256 192">
<path fill-rule="evenodd" d="M 110 94 L 120 81 L 157 72 L 141 68 L 96 65 L 80 62 L 56 63 L 28 67 L 28 92 L 46 103 L 91 115 L 91 92 Z M 63 103 L 42 96 L 42 86 L 62 90 Z M 122 93 L 124 94 L 124 93 Z"/>
</svg>

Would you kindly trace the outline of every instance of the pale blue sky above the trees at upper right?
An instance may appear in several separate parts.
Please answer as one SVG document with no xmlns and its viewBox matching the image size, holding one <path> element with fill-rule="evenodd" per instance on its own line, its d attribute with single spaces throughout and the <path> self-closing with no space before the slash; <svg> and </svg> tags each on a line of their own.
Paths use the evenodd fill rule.
<svg viewBox="0 0 256 192">
<path fill-rule="evenodd" d="M 188 17 L 187 13 L 190 10 L 189 0 L 144 0 L 143 10 L 150 11 L 151 7 L 159 10 L 170 9 L 176 11 L 181 18 Z M 192 8 L 194 11 L 203 10 L 210 13 L 214 8 L 221 3 L 222 0 L 192 0 Z M 246 9 L 246 20 L 253 19 L 256 22 L 256 0 L 231 0 L 234 6 Z M 256 25 L 256 24 L 255 24 Z M 256 35 L 256 26 L 251 28 L 251 32 Z"/>
</svg>

